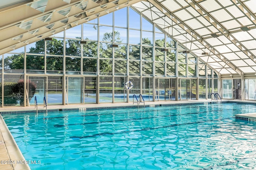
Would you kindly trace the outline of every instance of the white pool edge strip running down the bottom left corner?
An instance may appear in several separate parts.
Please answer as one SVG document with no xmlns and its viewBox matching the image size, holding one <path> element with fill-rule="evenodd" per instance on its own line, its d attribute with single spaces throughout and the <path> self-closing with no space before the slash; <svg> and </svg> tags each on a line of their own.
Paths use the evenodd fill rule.
<svg viewBox="0 0 256 170">
<path fill-rule="evenodd" d="M 25 158 L 23 154 L 20 152 L 20 149 L 16 142 L 14 141 L 14 138 L 12 137 L 12 134 L 10 133 L 6 123 L 4 122 L 4 119 L 0 115 L 0 132 L 2 133 L 2 137 L 4 140 L 4 145 L 7 150 L 7 154 L 9 155 L 10 161 L 7 163 L 12 163 L 12 167 L 14 170 L 30 170 L 30 167 L 28 164 L 18 164 L 17 162 L 20 162 L 22 160 L 25 161 Z M 8 159 L 4 159 L 8 160 Z M 23 162 L 23 161 L 22 161 Z M 4 166 L 4 164 L 0 164 L 0 166 Z"/>
</svg>

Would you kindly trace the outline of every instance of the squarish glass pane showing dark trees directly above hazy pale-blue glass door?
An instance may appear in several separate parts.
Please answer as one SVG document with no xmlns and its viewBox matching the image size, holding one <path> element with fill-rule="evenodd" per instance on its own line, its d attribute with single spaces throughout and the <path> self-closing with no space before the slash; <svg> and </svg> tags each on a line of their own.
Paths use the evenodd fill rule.
<svg viewBox="0 0 256 170">
<path fill-rule="evenodd" d="M 66 57 L 66 74 L 81 74 L 81 58 Z"/>
</svg>

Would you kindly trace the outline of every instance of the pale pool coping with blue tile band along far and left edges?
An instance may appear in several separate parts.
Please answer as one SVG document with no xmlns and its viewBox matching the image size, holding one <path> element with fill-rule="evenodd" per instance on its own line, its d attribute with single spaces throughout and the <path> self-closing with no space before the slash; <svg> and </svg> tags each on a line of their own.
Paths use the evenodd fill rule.
<svg viewBox="0 0 256 170">
<path fill-rule="evenodd" d="M 232 102 L 232 103 L 242 103 L 242 104 L 255 104 L 253 101 L 241 101 L 241 100 L 222 100 L 222 102 Z M 217 103 L 212 100 L 185 100 L 185 101 L 158 101 L 158 102 L 145 102 L 145 107 L 160 107 L 160 106 L 177 106 L 177 105 L 191 105 L 191 104 L 212 104 Z M 218 102 L 220 103 L 220 102 Z M 217 104 L 218 104 L 217 103 Z M 85 106 L 86 105 L 86 106 Z M 95 109 L 118 109 L 118 108 L 143 108 L 144 105 L 140 104 L 139 106 L 132 103 L 114 103 L 114 104 L 79 104 L 79 105 L 54 105 L 48 106 L 47 110 L 50 111 L 88 111 Z M 110 106 L 112 105 L 112 106 Z M 39 106 L 38 113 L 45 113 L 46 109 L 43 106 Z M 1 136 L 4 141 L 5 153 L 8 154 L 8 160 L 25 160 L 23 154 L 21 153 L 18 145 L 16 144 L 14 138 L 12 137 L 4 119 L 1 114 L 24 114 L 24 113 L 36 113 L 34 106 L 30 107 L 2 107 L 0 108 L 0 141 Z M 256 120 L 256 114 L 255 114 Z M 0 142 L 0 151 L 1 151 L 1 142 Z M 1 152 L 2 153 L 2 152 Z M 0 156 L 1 158 L 1 156 Z M 1 159 L 0 159 L 1 160 Z M 28 164 L 0 164 L 1 170 L 30 170 Z"/>
</svg>

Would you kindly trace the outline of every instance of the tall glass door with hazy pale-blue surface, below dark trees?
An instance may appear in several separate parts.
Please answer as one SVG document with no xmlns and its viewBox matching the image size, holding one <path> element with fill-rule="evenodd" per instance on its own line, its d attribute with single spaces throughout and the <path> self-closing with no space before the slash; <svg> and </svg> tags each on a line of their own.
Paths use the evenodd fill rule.
<svg viewBox="0 0 256 170">
<path fill-rule="evenodd" d="M 83 78 L 81 77 L 68 77 L 68 103 L 80 104 L 82 101 L 82 88 L 84 86 Z"/>
</svg>

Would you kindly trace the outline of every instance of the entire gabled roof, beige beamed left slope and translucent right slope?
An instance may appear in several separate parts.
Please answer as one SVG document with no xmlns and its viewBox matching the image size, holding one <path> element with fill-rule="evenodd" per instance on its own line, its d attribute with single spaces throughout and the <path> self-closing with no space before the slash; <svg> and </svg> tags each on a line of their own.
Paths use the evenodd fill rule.
<svg viewBox="0 0 256 170">
<path fill-rule="evenodd" d="M 216 72 L 256 72 L 255 0 L 1 1 L 0 55 L 126 6 Z"/>
</svg>

